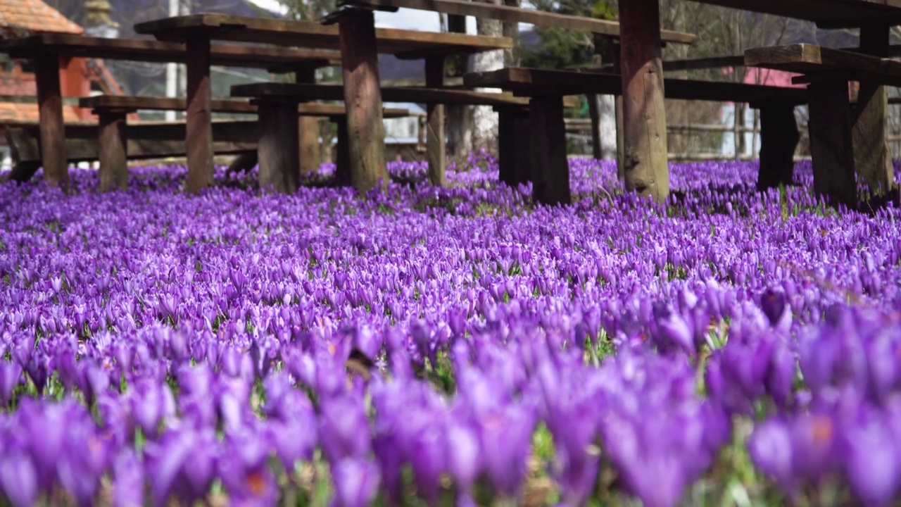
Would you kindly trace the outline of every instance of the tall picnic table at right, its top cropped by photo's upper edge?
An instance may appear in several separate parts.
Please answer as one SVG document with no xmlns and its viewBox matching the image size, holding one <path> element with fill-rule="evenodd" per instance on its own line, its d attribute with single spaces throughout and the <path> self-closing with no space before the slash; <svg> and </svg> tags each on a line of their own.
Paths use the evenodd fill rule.
<svg viewBox="0 0 901 507">
<path fill-rule="evenodd" d="M 755 13 L 815 22 L 823 28 L 860 27 L 860 51 L 887 56 L 889 26 L 901 23 L 901 0 L 696 0 Z M 660 51 L 658 0 L 622 0 L 620 9 L 623 77 L 624 174 L 628 190 L 662 200 L 669 194 L 666 116 Z M 887 92 L 861 83 L 854 138 L 884 143 Z M 887 153 L 878 161 L 886 171 Z M 816 161 L 814 161 L 816 165 Z"/>
</svg>

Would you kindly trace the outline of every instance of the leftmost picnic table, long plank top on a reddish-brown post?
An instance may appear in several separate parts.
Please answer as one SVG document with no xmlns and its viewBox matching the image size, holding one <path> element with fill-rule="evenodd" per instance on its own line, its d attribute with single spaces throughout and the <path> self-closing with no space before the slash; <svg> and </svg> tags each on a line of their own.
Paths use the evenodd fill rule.
<svg viewBox="0 0 901 507">
<path fill-rule="evenodd" d="M 0 41 L 0 52 L 8 53 L 13 58 L 30 59 L 34 63 L 41 119 L 41 160 L 44 178 L 64 187 L 68 186 L 68 158 L 66 129 L 62 119 L 59 58 L 174 62 L 189 60 L 183 44 L 65 34 L 7 39 Z M 337 51 L 288 50 L 235 44 L 216 44 L 209 51 L 210 64 L 268 69 L 272 72 L 329 66 L 340 60 L 340 57 L 341 54 Z"/>
</svg>

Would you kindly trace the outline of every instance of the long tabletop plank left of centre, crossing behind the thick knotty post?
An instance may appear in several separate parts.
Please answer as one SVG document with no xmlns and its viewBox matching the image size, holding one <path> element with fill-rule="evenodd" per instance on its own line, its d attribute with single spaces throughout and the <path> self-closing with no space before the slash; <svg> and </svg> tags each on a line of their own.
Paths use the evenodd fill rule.
<svg viewBox="0 0 901 507">
<path fill-rule="evenodd" d="M 273 18 L 227 14 L 189 14 L 134 25 L 135 32 L 160 41 L 184 41 L 203 35 L 216 41 L 241 41 L 338 50 L 338 26 Z M 378 52 L 398 58 L 424 58 L 513 48 L 509 37 L 487 37 L 449 32 L 417 32 L 378 28 Z"/>
</svg>

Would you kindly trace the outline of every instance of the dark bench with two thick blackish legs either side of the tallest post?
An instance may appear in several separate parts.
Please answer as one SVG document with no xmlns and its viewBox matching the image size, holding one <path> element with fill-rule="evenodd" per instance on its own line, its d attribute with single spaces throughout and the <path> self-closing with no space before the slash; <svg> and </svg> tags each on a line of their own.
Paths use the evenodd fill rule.
<svg viewBox="0 0 901 507">
<path fill-rule="evenodd" d="M 621 95 L 622 79 L 616 74 L 565 70 L 507 68 L 470 73 L 463 77 L 469 87 L 502 88 L 514 96 L 531 97 L 532 189 L 537 202 L 569 202 L 569 166 L 566 161 L 563 109 L 560 96 L 584 93 Z M 805 104 L 801 88 L 778 88 L 743 83 L 665 79 L 667 98 L 746 102 L 760 108 L 761 188 L 791 180 L 792 156 L 799 139 L 794 107 Z"/>
</svg>

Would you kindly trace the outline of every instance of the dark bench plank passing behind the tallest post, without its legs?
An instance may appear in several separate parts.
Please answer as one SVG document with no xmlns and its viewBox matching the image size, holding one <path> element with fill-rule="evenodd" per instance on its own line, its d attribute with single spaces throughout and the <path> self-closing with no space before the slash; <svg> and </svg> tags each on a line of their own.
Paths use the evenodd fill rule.
<svg viewBox="0 0 901 507">
<path fill-rule="evenodd" d="M 622 78 L 618 74 L 596 74 L 567 70 L 507 68 L 488 72 L 474 72 L 463 76 L 468 87 L 502 88 L 516 96 L 573 95 L 578 93 L 621 95 Z M 760 103 L 784 101 L 804 104 L 806 90 L 764 85 L 746 85 L 696 79 L 665 80 L 667 98 L 680 100 L 711 100 L 723 102 Z"/>
</svg>

